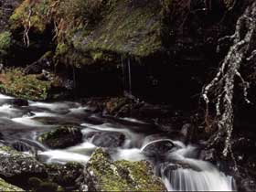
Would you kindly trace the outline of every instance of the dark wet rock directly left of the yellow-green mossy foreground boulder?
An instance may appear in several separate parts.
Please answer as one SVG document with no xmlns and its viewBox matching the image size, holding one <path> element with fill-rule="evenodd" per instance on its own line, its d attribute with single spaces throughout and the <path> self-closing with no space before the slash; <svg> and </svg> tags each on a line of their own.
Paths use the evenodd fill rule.
<svg viewBox="0 0 256 192">
<path fill-rule="evenodd" d="M 61 187 L 77 189 L 76 180 L 82 176 L 83 169 L 83 165 L 75 162 L 69 162 L 66 165 L 48 165 L 48 178 Z"/>
</svg>

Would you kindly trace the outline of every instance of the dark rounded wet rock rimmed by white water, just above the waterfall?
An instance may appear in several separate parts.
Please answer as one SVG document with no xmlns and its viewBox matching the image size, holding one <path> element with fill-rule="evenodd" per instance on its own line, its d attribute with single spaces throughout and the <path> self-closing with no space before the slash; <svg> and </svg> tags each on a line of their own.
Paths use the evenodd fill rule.
<svg viewBox="0 0 256 192">
<path fill-rule="evenodd" d="M 161 157 L 170 152 L 174 146 L 171 140 L 160 139 L 146 144 L 142 150 L 146 156 Z"/>
</svg>

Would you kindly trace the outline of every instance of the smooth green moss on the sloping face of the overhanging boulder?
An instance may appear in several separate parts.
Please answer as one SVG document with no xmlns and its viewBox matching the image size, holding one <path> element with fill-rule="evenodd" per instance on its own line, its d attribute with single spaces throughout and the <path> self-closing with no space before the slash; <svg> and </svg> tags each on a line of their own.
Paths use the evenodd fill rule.
<svg viewBox="0 0 256 192">
<path fill-rule="evenodd" d="M 145 57 L 161 48 L 160 16 L 161 5 L 148 3 L 145 6 L 132 6 L 130 1 L 118 1 L 112 11 L 103 18 L 85 39 L 83 50 L 109 50 Z M 132 7 L 131 7 L 132 6 Z M 80 38 L 75 39 L 80 41 Z M 80 41 L 81 42 L 81 41 Z M 76 48 L 76 46 L 75 46 Z"/>
</svg>

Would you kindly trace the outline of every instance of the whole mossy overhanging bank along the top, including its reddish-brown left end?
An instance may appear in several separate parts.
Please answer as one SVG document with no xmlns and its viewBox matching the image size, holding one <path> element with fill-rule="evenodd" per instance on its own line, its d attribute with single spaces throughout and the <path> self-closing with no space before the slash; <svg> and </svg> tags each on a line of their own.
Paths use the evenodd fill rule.
<svg viewBox="0 0 256 192">
<path fill-rule="evenodd" d="M 25 0 L 10 16 L 10 28 L 44 34 L 54 23 L 56 62 L 115 63 L 117 55 L 162 51 L 162 9 L 154 0 Z"/>
</svg>

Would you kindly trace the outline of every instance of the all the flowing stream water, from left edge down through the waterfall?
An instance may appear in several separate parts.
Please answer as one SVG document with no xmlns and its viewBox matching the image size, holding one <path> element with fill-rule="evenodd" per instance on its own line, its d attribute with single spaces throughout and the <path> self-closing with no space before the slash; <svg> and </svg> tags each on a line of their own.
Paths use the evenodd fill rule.
<svg viewBox="0 0 256 192">
<path fill-rule="evenodd" d="M 86 164 L 97 144 L 97 133 L 123 134 L 125 140 L 118 147 L 107 147 L 113 160 L 149 160 L 155 165 L 155 174 L 161 176 L 169 191 L 231 191 L 236 190 L 234 180 L 219 172 L 217 167 L 197 159 L 198 148 L 161 137 L 148 123 L 131 118 L 102 117 L 91 112 L 79 102 L 52 103 L 29 101 L 28 106 L 15 107 L 13 98 L 0 94 L 0 132 L 3 142 L 19 141 L 16 148 L 29 153 L 37 148 L 40 161 L 65 164 L 77 161 Z M 60 124 L 78 124 L 83 133 L 83 143 L 63 150 L 51 150 L 37 142 L 40 133 L 50 131 Z M 92 136 L 90 136 L 92 135 Z M 112 140 L 111 140 L 112 141 Z M 115 140 L 114 140 L 115 141 Z M 115 141 L 117 142 L 117 141 Z M 162 147 L 162 145 L 165 147 Z M 162 151 L 163 150 L 163 151 Z"/>
</svg>

